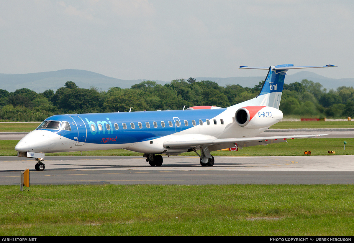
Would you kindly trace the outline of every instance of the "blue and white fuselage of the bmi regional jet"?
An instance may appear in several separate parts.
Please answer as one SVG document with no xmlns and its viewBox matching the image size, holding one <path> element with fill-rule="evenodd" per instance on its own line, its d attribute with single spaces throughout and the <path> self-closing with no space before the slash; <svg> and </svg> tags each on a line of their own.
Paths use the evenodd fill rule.
<svg viewBox="0 0 354 243">
<path fill-rule="evenodd" d="M 30 132 L 15 149 L 36 153 L 127 149 L 176 154 L 186 152 L 188 148 L 169 149 L 164 143 L 253 137 L 268 128 L 240 127 L 234 122 L 238 108 L 53 115 L 44 121 L 52 122 L 50 128 L 39 127 Z M 264 114 L 269 115 L 271 108 L 268 107 Z M 260 114 L 263 118 L 263 111 Z M 278 117 L 273 115 L 273 118 L 276 123 L 282 119 L 282 114 L 279 112 Z M 64 123 L 69 124 L 67 130 Z"/>
</svg>

